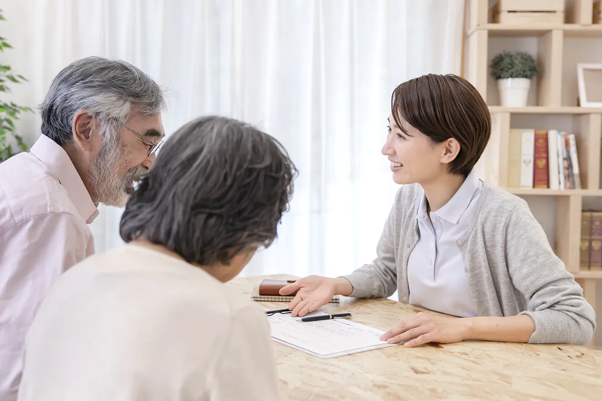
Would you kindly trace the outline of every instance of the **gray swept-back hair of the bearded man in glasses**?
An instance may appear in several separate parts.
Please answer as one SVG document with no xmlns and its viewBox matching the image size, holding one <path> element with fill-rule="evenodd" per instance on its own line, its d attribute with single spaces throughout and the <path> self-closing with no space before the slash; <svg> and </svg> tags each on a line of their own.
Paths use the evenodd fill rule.
<svg viewBox="0 0 602 401">
<path fill-rule="evenodd" d="M 72 120 L 85 110 L 99 120 L 105 140 L 119 131 L 132 112 L 158 115 L 166 109 L 161 87 L 151 77 L 122 60 L 87 57 L 58 73 L 42 104 L 42 133 L 59 145 L 73 142 Z"/>
</svg>

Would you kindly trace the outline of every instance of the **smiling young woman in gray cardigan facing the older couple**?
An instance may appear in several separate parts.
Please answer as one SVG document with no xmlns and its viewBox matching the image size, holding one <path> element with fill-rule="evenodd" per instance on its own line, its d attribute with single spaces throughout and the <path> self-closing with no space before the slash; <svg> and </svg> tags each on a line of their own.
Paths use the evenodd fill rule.
<svg viewBox="0 0 602 401">
<path fill-rule="evenodd" d="M 393 92 L 383 155 L 403 186 L 376 259 L 350 275 L 310 276 L 289 305 L 303 316 L 335 294 L 388 297 L 455 319 L 418 313 L 389 343 L 490 340 L 586 344 L 595 314 L 550 248 L 527 203 L 479 180 L 473 167 L 491 133 L 477 90 L 455 75 L 425 75 Z"/>
</svg>

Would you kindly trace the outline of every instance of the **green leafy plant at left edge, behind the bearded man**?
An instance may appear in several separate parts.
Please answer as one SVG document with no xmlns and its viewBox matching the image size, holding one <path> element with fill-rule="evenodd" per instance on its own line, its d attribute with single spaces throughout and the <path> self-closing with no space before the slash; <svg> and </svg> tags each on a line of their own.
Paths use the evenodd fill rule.
<svg viewBox="0 0 602 401">
<path fill-rule="evenodd" d="M 0 10 L 0 21 L 5 20 L 2 10 Z M 1 52 L 4 52 L 4 49 L 12 49 L 12 47 L 0 36 Z M 0 64 L 0 92 L 10 92 L 11 90 L 7 86 L 10 82 L 20 84 L 25 81 L 27 79 L 22 75 L 15 75 L 10 66 Z M 14 102 L 8 103 L 4 99 L 0 99 L 0 163 L 21 152 L 21 150 L 25 152 L 28 150 L 23 137 L 16 133 L 14 126 L 14 120 L 19 120 L 21 112 L 33 112 L 33 109 L 16 105 Z M 13 145 L 16 145 L 17 148 L 13 148 Z"/>
</svg>

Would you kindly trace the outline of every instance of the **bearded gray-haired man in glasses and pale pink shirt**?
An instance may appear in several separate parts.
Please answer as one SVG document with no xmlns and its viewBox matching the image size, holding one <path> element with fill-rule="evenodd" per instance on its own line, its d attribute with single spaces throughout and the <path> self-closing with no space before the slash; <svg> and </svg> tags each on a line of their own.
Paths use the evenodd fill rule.
<svg viewBox="0 0 602 401">
<path fill-rule="evenodd" d="M 42 135 L 0 165 L 0 399 L 16 399 L 26 332 L 49 287 L 94 252 L 99 203 L 123 207 L 164 135 L 163 91 L 124 61 L 75 61 L 40 105 Z"/>
</svg>

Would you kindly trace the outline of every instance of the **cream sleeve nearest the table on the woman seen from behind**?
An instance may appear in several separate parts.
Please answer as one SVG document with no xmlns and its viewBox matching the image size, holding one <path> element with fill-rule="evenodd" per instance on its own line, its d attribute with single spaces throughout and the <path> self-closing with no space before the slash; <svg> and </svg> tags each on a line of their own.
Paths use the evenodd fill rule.
<svg viewBox="0 0 602 401">
<path fill-rule="evenodd" d="M 217 361 L 214 399 L 276 401 L 278 377 L 269 323 L 254 305 L 235 312 L 225 349 Z"/>
</svg>

